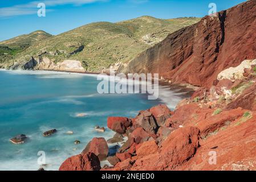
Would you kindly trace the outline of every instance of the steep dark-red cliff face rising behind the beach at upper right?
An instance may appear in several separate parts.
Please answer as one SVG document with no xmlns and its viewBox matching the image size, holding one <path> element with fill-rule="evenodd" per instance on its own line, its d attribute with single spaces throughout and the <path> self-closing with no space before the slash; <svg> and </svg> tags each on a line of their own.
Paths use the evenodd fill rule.
<svg viewBox="0 0 256 182">
<path fill-rule="evenodd" d="M 211 86 L 222 70 L 256 57 L 256 1 L 170 34 L 133 59 L 121 72 L 159 73 L 173 82 Z"/>
</svg>

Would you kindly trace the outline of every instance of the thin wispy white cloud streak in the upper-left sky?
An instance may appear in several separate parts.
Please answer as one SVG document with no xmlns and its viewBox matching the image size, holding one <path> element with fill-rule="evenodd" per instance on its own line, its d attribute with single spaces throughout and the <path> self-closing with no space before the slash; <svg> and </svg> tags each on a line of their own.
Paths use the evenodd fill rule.
<svg viewBox="0 0 256 182">
<path fill-rule="evenodd" d="M 107 1 L 107 0 L 43 0 L 43 1 L 32 1 L 22 5 L 14 5 L 10 7 L 0 8 L 0 18 L 17 16 L 17 15 L 30 15 L 36 14 L 38 11 L 38 3 L 44 3 L 46 10 L 48 7 L 54 7 L 59 5 L 84 5 L 87 3 Z M 52 11 L 52 10 L 51 10 Z"/>
</svg>

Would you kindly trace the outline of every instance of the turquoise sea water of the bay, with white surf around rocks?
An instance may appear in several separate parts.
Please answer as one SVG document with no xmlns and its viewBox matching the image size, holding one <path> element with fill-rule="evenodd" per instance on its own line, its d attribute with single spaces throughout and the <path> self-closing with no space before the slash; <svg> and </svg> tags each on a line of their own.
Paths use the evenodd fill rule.
<svg viewBox="0 0 256 182">
<path fill-rule="evenodd" d="M 37 170 L 38 151 L 46 154 L 44 168 L 56 170 L 93 137 L 112 137 L 108 129 L 94 130 L 96 125 L 107 128 L 108 116 L 135 117 L 139 110 L 162 103 L 148 100 L 146 94 L 98 94 L 98 82 L 96 76 L 76 73 L 0 71 L 0 170 Z M 175 105 L 180 97 L 172 99 Z M 49 129 L 58 132 L 43 137 Z M 12 144 L 9 139 L 18 134 L 29 140 Z M 76 139 L 82 143 L 75 145 Z"/>
</svg>

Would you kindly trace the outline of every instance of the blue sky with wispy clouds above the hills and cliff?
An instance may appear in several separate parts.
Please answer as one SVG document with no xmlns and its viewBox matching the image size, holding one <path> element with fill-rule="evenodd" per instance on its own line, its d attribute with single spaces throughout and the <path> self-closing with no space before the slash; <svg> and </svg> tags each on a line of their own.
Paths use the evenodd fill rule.
<svg viewBox="0 0 256 182">
<path fill-rule="evenodd" d="M 143 15 L 156 18 L 208 15 L 209 3 L 217 11 L 245 0 L 8 0 L 0 1 L 0 41 L 44 30 L 52 35 L 99 21 L 119 22 Z M 46 4 L 46 17 L 38 17 L 37 4 Z"/>
</svg>

